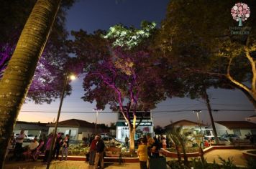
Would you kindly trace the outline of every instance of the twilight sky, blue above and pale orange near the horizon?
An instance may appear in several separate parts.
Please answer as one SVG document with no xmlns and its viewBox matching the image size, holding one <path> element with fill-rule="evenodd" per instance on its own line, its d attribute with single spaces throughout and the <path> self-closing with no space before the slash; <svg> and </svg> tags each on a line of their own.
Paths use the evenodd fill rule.
<svg viewBox="0 0 256 169">
<path fill-rule="evenodd" d="M 66 27 L 68 31 L 79 29 L 89 33 L 97 29 L 109 29 L 114 24 L 122 23 L 126 26 L 134 25 L 139 28 L 142 20 L 160 21 L 165 18 L 165 10 L 168 0 L 80 0 L 68 11 Z M 95 122 L 96 115 L 93 113 L 95 104 L 83 102 L 82 79 L 71 82 L 72 95 L 65 97 L 63 101 L 61 120 L 71 118 Z M 211 97 L 214 120 L 244 120 L 244 117 L 255 115 L 252 104 L 239 90 L 208 90 Z M 24 104 L 19 113 L 18 120 L 28 122 L 52 122 L 57 117 L 59 100 L 47 105 L 35 105 L 33 102 Z M 193 110 L 203 110 L 200 118 L 209 123 L 209 114 L 206 111 L 204 100 L 190 100 L 189 98 L 172 98 L 157 105 L 153 111 L 155 125 L 165 126 L 170 121 L 192 120 L 196 121 Z M 233 111 L 232 111 L 233 110 Z M 87 112 L 87 113 L 86 113 Z M 104 112 L 111 112 L 109 109 Z M 116 122 L 117 116 L 112 113 L 101 113 L 99 123 L 109 124 Z"/>
</svg>

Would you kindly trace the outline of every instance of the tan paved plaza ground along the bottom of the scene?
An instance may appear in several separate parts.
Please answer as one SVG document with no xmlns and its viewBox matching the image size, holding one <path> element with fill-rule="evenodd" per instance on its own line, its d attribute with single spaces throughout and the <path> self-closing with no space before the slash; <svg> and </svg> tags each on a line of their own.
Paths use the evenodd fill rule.
<svg viewBox="0 0 256 169">
<path fill-rule="evenodd" d="M 206 153 L 204 157 L 208 162 L 213 162 L 214 159 L 217 163 L 220 162 L 218 156 L 227 160 L 227 158 L 232 158 L 234 164 L 239 166 L 246 166 L 246 160 L 242 155 L 242 150 L 212 150 Z M 174 160 L 173 158 L 167 158 L 167 160 Z M 140 163 L 104 163 L 106 169 L 122 169 L 122 168 L 132 168 L 139 169 Z M 8 162 L 5 165 L 5 169 L 43 169 L 46 165 L 42 165 L 42 161 L 38 160 L 36 162 Z M 51 169 L 93 169 L 93 166 L 89 166 L 88 163 L 83 161 L 53 161 L 50 165 Z"/>
</svg>

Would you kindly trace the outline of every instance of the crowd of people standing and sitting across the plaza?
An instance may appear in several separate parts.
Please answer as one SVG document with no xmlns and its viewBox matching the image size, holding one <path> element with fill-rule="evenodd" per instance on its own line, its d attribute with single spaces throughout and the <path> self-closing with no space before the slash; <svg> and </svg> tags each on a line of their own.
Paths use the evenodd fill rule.
<svg viewBox="0 0 256 169">
<path fill-rule="evenodd" d="M 42 160 L 43 163 L 47 163 L 50 155 L 52 139 L 55 140 L 55 145 L 53 145 L 52 158 L 51 160 L 67 160 L 68 158 L 68 147 L 69 147 L 69 135 L 65 135 L 62 132 L 54 135 L 50 133 L 47 139 L 40 138 L 38 140 L 37 136 L 29 143 L 26 148 L 22 147 L 25 139 L 24 130 L 21 130 L 17 137 L 14 137 L 14 133 L 9 142 L 9 149 L 13 149 L 13 160 L 37 160 L 40 153 L 44 153 L 45 156 Z M 128 147 L 129 138 L 125 138 L 125 145 Z M 147 168 L 147 160 L 149 158 L 157 158 L 159 156 L 160 148 L 167 147 L 167 141 L 162 135 L 159 137 L 151 137 L 148 133 L 147 135 L 141 137 L 138 141 L 137 154 L 140 159 L 140 168 Z M 101 135 L 96 135 L 88 140 L 89 143 L 89 153 L 86 155 L 86 160 L 88 160 L 89 165 L 94 165 L 94 168 L 104 168 L 104 152 L 105 144 L 101 139 Z M 61 158 L 59 158 L 61 150 Z M 8 152 L 7 152 L 8 153 Z M 65 158 L 64 158 L 65 156 Z"/>
</svg>

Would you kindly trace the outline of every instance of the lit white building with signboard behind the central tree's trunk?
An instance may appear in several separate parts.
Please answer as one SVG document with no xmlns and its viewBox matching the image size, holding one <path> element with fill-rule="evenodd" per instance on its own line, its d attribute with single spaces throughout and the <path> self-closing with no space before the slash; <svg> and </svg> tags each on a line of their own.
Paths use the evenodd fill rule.
<svg viewBox="0 0 256 169">
<path fill-rule="evenodd" d="M 118 140 L 124 141 L 125 137 L 129 137 L 129 127 L 127 121 L 124 119 L 124 116 L 122 115 L 121 112 L 117 113 L 118 114 L 118 120 L 116 122 L 116 138 Z M 135 133 L 135 140 L 137 140 L 140 135 L 145 135 L 146 133 L 151 133 L 153 135 L 154 132 L 154 125 L 152 121 L 152 114 L 151 112 L 142 112 L 142 111 L 137 111 L 137 124 L 140 122 L 142 118 L 142 122 L 140 122 L 140 125 L 136 129 Z M 144 114 L 144 115 L 143 115 Z M 133 117 L 132 112 L 129 113 L 129 116 Z"/>
</svg>

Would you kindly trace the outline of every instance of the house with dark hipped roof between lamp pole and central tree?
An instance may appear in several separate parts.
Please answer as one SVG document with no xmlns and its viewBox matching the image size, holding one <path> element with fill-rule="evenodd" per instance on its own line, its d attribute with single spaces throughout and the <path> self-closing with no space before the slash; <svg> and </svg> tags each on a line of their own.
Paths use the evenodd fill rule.
<svg viewBox="0 0 256 169">
<path fill-rule="evenodd" d="M 52 132 L 55 123 L 49 125 L 49 132 Z M 97 129 L 99 132 L 100 129 Z M 89 137 L 95 131 L 95 124 L 84 120 L 70 119 L 58 122 L 57 132 L 63 132 L 65 135 L 70 135 L 70 140 L 82 140 L 83 137 Z"/>
</svg>

